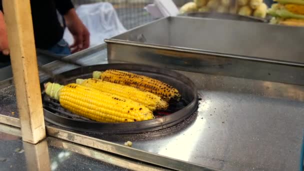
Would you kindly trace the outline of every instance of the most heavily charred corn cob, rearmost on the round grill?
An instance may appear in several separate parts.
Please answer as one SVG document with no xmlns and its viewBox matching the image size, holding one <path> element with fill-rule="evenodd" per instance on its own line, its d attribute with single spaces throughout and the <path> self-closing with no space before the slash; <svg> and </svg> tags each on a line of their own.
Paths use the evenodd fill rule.
<svg viewBox="0 0 304 171">
<path fill-rule="evenodd" d="M 93 78 L 118 83 L 121 85 L 128 85 L 143 91 L 148 91 L 160 96 L 160 98 L 167 102 L 171 100 L 178 101 L 181 97 L 178 90 L 171 85 L 157 79 L 131 72 L 115 69 L 108 69 L 104 72 L 94 71 Z"/>
</svg>

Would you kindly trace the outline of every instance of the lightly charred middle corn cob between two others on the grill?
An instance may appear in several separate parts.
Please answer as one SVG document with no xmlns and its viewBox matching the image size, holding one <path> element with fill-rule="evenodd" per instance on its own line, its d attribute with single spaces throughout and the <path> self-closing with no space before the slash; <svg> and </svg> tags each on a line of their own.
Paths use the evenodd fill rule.
<svg viewBox="0 0 304 171">
<path fill-rule="evenodd" d="M 108 81 L 103 81 L 101 79 L 76 79 L 76 83 L 95 88 L 102 92 L 113 93 L 124 98 L 129 98 L 138 103 L 142 103 L 144 106 L 148 107 L 150 110 L 165 110 L 168 107 L 168 103 L 161 99 L 159 96 L 137 89 L 135 87 L 120 85 L 117 83 L 112 83 Z"/>
</svg>

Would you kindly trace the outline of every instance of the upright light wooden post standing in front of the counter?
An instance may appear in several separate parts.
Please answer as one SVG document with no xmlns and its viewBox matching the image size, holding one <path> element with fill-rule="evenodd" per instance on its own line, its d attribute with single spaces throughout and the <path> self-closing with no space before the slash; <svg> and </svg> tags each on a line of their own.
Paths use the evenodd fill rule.
<svg viewBox="0 0 304 171">
<path fill-rule="evenodd" d="M 45 136 L 40 81 L 29 0 L 2 0 L 22 140 L 37 143 Z"/>
</svg>

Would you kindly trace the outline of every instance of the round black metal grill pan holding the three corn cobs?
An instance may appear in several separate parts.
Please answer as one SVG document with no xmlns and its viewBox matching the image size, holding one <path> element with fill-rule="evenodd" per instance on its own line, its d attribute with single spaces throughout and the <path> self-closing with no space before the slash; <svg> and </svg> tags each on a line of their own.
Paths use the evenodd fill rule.
<svg viewBox="0 0 304 171">
<path fill-rule="evenodd" d="M 69 71 L 60 73 L 63 75 L 65 83 L 75 82 L 76 78 L 89 78 L 92 72 L 95 70 L 106 70 L 106 69 L 119 69 L 125 70 L 133 73 L 138 73 L 146 75 L 152 78 L 164 81 L 179 90 L 182 96 L 183 107 L 178 107 L 179 104 L 172 104 L 169 110 L 172 112 L 170 114 L 157 115 L 155 119 L 145 120 L 145 121 L 135 121 L 126 123 L 103 123 L 91 121 L 88 119 L 77 118 L 77 115 L 68 113 L 62 107 L 57 104 L 57 108 L 54 109 L 54 101 L 50 101 L 48 96 L 45 94 L 42 88 L 42 99 L 43 99 L 43 111 L 44 118 L 47 122 L 52 124 L 65 127 L 71 130 L 84 131 L 84 132 L 94 132 L 94 133 L 141 133 L 147 131 L 154 131 L 175 125 L 185 118 L 189 117 L 197 109 L 198 99 L 197 90 L 194 83 L 183 74 L 159 67 L 154 67 L 150 65 L 142 64 L 129 64 L 129 63 L 110 63 L 110 64 L 99 64 L 83 66 Z M 43 83 L 54 80 L 47 79 L 41 82 L 41 87 Z M 62 83 L 62 82 L 58 82 Z M 181 104 L 180 104 L 181 105 Z M 175 109 L 175 110 L 174 110 Z M 60 112 L 62 111 L 62 112 Z M 161 112 L 160 112 L 161 113 Z M 76 116 L 76 117 L 73 117 Z"/>
</svg>

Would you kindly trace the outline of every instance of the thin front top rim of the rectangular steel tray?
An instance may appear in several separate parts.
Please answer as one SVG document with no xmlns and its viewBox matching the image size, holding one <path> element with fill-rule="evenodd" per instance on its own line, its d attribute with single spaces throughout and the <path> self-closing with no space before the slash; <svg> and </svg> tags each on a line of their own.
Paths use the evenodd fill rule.
<svg viewBox="0 0 304 171">
<path fill-rule="evenodd" d="M 260 57 L 250 57 L 250 56 L 244 56 L 244 55 L 233 55 L 233 54 L 220 53 L 220 52 L 214 52 L 214 51 L 208 51 L 208 50 L 199 50 L 199 49 L 195 49 L 195 48 L 166 46 L 166 45 L 158 45 L 158 44 L 153 44 L 153 43 L 147 44 L 147 43 L 140 43 L 140 42 L 135 42 L 135 41 L 114 39 L 114 38 L 107 38 L 107 39 L 104 39 L 104 41 L 106 43 L 117 43 L 117 44 L 133 45 L 133 46 L 156 48 L 156 49 L 163 49 L 163 50 L 174 50 L 174 51 L 180 51 L 180 52 L 208 54 L 208 55 L 215 55 L 215 56 L 219 56 L 219 57 L 228 57 L 228 58 L 234 58 L 234 59 L 268 62 L 268 63 L 275 63 L 275 64 L 285 64 L 285 65 L 292 65 L 292 66 L 304 66 L 304 63 L 298 63 L 298 62 L 288 62 L 288 61 L 284 61 L 284 60 L 265 59 L 265 58 L 260 58 Z"/>
</svg>

